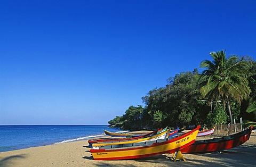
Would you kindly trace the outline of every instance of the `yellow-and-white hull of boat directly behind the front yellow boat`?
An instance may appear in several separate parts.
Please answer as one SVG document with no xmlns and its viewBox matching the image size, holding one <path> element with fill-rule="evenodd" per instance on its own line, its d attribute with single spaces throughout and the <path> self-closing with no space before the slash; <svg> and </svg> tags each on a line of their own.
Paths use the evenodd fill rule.
<svg viewBox="0 0 256 167">
<path fill-rule="evenodd" d="M 108 145 L 127 145 L 132 143 L 141 143 L 146 141 L 155 141 L 157 139 L 166 139 L 170 133 L 170 129 L 163 129 L 157 132 L 157 135 L 149 136 L 146 138 L 138 138 L 138 139 L 130 139 L 125 141 L 110 141 L 110 142 L 99 142 L 92 144 L 94 149 L 99 149 L 101 146 L 108 146 Z"/>
</svg>

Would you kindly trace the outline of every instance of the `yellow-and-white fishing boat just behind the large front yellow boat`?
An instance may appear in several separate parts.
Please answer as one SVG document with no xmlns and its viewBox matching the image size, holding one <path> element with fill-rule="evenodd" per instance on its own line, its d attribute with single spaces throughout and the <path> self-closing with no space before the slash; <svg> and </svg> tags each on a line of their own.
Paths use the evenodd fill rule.
<svg viewBox="0 0 256 167">
<path fill-rule="evenodd" d="M 121 140 L 121 141 L 102 141 L 98 143 L 93 143 L 92 148 L 100 149 L 100 148 L 117 148 L 134 145 L 134 143 L 145 143 L 147 141 L 155 141 L 157 139 L 166 139 L 169 136 L 170 129 L 164 128 L 163 130 L 157 132 L 156 135 L 151 135 L 145 138 L 137 138 L 137 139 L 129 139 L 129 140 Z"/>
</svg>

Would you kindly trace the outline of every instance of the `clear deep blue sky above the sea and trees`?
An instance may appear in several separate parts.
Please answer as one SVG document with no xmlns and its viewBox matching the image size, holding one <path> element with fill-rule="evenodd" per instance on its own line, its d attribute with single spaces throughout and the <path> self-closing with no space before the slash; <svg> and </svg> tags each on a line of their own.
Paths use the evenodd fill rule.
<svg viewBox="0 0 256 167">
<path fill-rule="evenodd" d="M 226 49 L 255 60 L 256 1 L 0 1 L 0 124 L 107 124 Z"/>
</svg>

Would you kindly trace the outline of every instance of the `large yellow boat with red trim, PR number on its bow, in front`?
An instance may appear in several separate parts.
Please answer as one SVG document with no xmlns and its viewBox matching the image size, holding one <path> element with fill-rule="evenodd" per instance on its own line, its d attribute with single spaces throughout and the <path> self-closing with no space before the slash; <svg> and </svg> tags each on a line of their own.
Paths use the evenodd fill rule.
<svg viewBox="0 0 256 167">
<path fill-rule="evenodd" d="M 150 157 L 165 153 L 174 153 L 182 151 L 195 142 L 196 135 L 200 126 L 176 138 L 167 138 L 156 140 L 147 146 L 132 146 L 123 148 L 109 148 L 109 149 L 90 149 L 94 160 L 125 160 L 141 157 Z"/>
</svg>

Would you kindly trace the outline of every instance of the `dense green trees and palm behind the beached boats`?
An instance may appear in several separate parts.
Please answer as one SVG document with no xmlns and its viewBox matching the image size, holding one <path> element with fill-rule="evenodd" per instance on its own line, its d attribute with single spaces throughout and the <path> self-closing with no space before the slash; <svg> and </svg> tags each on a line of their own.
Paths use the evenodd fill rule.
<svg viewBox="0 0 256 167">
<path fill-rule="evenodd" d="M 165 87 L 142 97 L 145 107 L 130 106 L 110 120 L 110 126 L 138 130 L 189 124 L 211 127 L 240 117 L 256 121 L 256 62 L 249 56 L 227 57 L 225 51 L 210 55 L 212 61 L 201 62 L 201 73 L 195 69 L 170 77 Z"/>
</svg>

